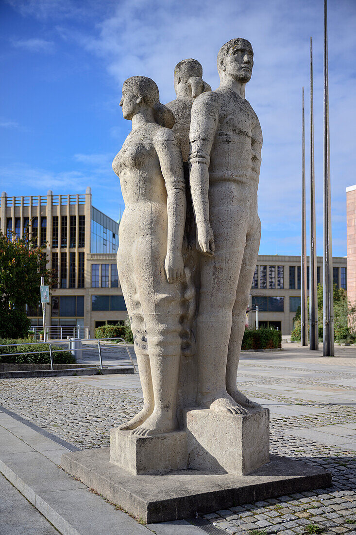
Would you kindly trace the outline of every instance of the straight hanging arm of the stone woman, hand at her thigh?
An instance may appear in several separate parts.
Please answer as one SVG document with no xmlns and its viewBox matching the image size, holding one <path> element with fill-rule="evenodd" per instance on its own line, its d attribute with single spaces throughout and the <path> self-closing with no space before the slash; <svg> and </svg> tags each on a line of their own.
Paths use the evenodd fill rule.
<svg viewBox="0 0 356 535">
<path fill-rule="evenodd" d="M 165 271 L 168 282 L 175 282 L 183 276 L 184 264 L 182 256 L 185 211 L 185 182 L 183 173 L 182 153 L 172 131 L 165 130 L 154 139 L 162 175 L 167 190 L 167 256 Z"/>
</svg>

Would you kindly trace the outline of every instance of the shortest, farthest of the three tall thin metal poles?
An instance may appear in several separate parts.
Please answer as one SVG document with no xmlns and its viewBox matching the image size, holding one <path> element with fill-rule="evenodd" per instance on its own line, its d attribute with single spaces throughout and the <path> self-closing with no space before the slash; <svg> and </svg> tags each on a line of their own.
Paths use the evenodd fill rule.
<svg viewBox="0 0 356 535">
<path fill-rule="evenodd" d="M 308 343 L 307 316 L 307 269 L 306 269 L 306 212 L 305 212 L 305 125 L 304 125 L 304 87 L 302 104 L 302 156 L 301 156 L 301 255 L 300 255 L 300 340 L 301 345 Z"/>
</svg>

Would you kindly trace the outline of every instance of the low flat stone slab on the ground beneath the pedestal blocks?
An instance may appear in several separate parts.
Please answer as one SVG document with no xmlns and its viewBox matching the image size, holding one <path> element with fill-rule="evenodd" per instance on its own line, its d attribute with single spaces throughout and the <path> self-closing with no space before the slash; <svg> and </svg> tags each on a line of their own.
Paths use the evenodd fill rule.
<svg viewBox="0 0 356 535">
<path fill-rule="evenodd" d="M 168 475 L 133 476 L 110 462 L 110 448 L 66 453 L 61 465 L 89 488 L 144 522 L 168 522 L 219 509 L 331 486 L 319 467 L 270 456 L 247 476 L 181 470 Z"/>
</svg>

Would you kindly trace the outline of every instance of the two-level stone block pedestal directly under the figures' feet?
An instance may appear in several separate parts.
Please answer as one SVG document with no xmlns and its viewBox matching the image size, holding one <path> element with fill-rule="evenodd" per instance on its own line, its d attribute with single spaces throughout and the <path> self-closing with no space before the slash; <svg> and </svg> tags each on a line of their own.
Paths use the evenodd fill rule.
<svg viewBox="0 0 356 535">
<path fill-rule="evenodd" d="M 184 409 L 182 423 L 182 431 L 156 437 L 112 429 L 110 462 L 135 476 L 185 469 L 242 476 L 269 461 L 268 409 L 246 415 Z"/>
</svg>

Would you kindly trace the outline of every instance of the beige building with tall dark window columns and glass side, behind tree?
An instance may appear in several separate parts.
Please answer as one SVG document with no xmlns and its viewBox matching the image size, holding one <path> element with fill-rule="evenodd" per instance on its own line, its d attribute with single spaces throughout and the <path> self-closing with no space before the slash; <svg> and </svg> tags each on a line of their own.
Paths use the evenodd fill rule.
<svg viewBox="0 0 356 535">
<path fill-rule="evenodd" d="M 11 238 L 26 227 L 38 245 L 47 245 L 48 269 L 58 287 L 46 307 L 46 325 L 95 327 L 127 318 L 116 252 L 119 224 L 91 204 L 85 195 L 7 197 L 2 193 L 1 230 Z M 43 326 L 41 307 L 28 310 L 32 325 Z"/>
</svg>

